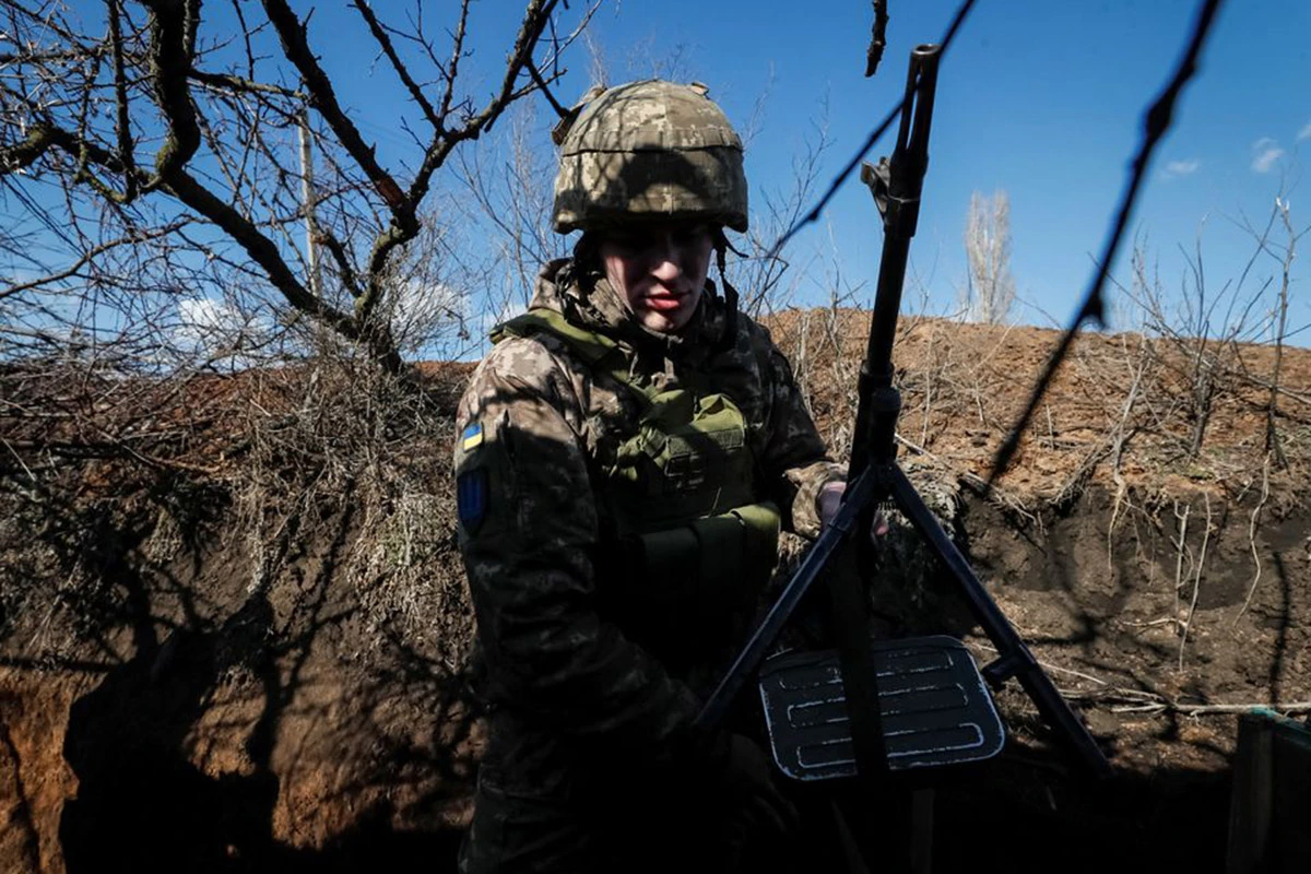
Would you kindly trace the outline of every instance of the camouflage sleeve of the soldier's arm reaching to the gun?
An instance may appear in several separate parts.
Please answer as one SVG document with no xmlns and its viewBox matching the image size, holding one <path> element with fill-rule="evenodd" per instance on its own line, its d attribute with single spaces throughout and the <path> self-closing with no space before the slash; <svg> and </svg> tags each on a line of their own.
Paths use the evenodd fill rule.
<svg viewBox="0 0 1311 874">
<path fill-rule="evenodd" d="M 846 481 L 846 468 L 829 456 L 788 359 L 768 330 L 754 325 L 754 333 L 753 345 L 762 362 L 762 390 L 768 396 L 762 468 L 775 481 L 781 506 L 791 510 L 792 529 L 804 537 L 817 537 L 819 490 L 829 482 Z"/>
</svg>

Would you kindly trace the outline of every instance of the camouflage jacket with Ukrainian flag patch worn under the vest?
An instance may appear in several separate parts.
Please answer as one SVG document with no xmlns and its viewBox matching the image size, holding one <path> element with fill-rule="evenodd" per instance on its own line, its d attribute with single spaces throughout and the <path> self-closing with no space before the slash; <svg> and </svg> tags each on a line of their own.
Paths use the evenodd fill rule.
<svg viewBox="0 0 1311 874">
<path fill-rule="evenodd" d="M 815 498 L 842 469 L 826 455 L 768 332 L 707 292 L 679 335 L 644 329 L 604 279 L 583 292 L 572 262 L 539 276 L 549 308 L 619 342 L 629 373 L 674 384 L 697 370 L 747 421 L 747 442 L 784 527 L 818 529 Z M 633 432 L 633 390 L 553 334 L 498 342 L 458 410 L 460 546 L 477 618 L 476 676 L 492 708 L 484 769 L 560 789 L 579 757 L 657 760 L 686 735 L 697 683 L 675 676 L 597 609 L 604 591 L 595 460 Z M 743 622 L 725 637 L 739 634 Z M 725 639 L 730 651 L 737 639 Z"/>
</svg>

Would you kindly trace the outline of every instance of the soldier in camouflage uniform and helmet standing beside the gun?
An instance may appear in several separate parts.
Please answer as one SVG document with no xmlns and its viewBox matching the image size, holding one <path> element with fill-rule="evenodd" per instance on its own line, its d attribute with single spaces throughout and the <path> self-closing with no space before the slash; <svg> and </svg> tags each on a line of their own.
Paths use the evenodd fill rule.
<svg viewBox="0 0 1311 874">
<path fill-rule="evenodd" d="M 747 189 L 705 89 L 612 88 L 558 132 L 553 224 L 582 237 L 496 329 L 458 413 L 489 731 L 460 866 L 733 870 L 796 811 L 760 746 L 694 717 L 780 527 L 814 536 L 842 470 L 722 280 Z"/>
</svg>

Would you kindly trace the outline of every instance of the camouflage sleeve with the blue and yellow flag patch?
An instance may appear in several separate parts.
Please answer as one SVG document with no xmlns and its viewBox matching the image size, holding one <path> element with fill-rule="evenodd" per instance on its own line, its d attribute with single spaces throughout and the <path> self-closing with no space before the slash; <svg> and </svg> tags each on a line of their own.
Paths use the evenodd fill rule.
<svg viewBox="0 0 1311 874">
<path fill-rule="evenodd" d="M 654 755 L 686 736 L 699 702 L 595 611 L 597 511 L 564 414 L 573 397 L 544 347 L 511 339 L 460 402 L 460 546 L 486 694 L 558 731 Z"/>
</svg>

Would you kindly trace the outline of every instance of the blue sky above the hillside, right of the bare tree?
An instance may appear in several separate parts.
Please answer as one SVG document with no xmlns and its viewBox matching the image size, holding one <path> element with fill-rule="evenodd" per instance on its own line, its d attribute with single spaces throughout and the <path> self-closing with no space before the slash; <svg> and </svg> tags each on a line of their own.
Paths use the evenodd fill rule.
<svg viewBox="0 0 1311 874">
<path fill-rule="evenodd" d="M 509 0 L 480 4 L 473 25 L 484 39 L 476 42 L 476 63 L 501 58 L 514 7 Z M 787 187 L 792 161 L 821 124 L 830 140 L 821 189 L 829 182 L 899 97 L 910 48 L 937 39 L 956 3 L 890 0 L 889 7 L 888 51 L 872 80 L 863 76 L 872 24 L 867 1 L 629 0 L 603 8 L 591 29 L 615 81 L 673 67 L 709 84 L 739 127 L 760 106 L 747 151 L 759 202 L 762 191 Z M 971 191 L 1002 189 L 1011 199 L 1012 270 L 1025 304 L 1016 316 L 1033 324 L 1070 316 L 1092 253 L 1103 246 L 1143 111 L 1168 81 L 1198 7 L 1184 0 L 978 3 L 939 81 L 912 248 L 929 309 L 949 308 L 965 279 L 961 235 Z M 1179 287 L 1185 267 L 1179 246 L 1192 249 L 1198 235 L 1213 294 L 1236 279 L 1255 240 L 1235 223 L 1245 218 L 1264 225 L 1281 185 L 1294 224 L 1311 224 L 1298 185 L 1299 151 L 1311 148 L 1308 45 L 1311 4 L 1304 0 L 1231 0 L 1222 9 L 1134 216 L 1168 288 Z M 561 97 L 572 101 L 587 72 L 586 52 L 576 54 L 557 89 Z M 888 147 L 880 143 L 874 155 Z M 848 280 L 872 280 L 880 244 L 871 198 L 851 183 L 796 240 L 792 254 L 800 261 L 821 252 L 839 259 Z M 1248 282 L 1276 267 L 1259 259 Z M 1304 266 L 1295 267 L 1299 283 L 1306 276 Z M 804 300 L 825 296 L 813 286 Z M 1304 300 L 1295 303 L 1291 321 L 1311 321 Z"/>
</svg>

